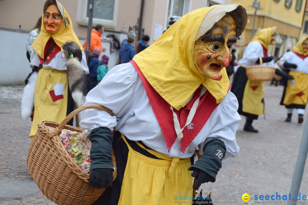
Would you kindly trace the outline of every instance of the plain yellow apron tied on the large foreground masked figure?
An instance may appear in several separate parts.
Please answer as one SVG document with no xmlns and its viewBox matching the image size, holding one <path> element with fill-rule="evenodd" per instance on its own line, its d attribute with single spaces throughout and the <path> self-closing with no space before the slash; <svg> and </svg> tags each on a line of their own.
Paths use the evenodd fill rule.
<svg viewBox="0 0 308 205">
<path fill-rule="evenodd" d="M 124 172 L 118 205 L 161 205 L 177 202 L 192 203 L 193 178 L 189 158 L 180 160 L 144 148 L 152 155 L 163 159 L 153 159 L 128 146 L 128 160 Z"/>
</svg>

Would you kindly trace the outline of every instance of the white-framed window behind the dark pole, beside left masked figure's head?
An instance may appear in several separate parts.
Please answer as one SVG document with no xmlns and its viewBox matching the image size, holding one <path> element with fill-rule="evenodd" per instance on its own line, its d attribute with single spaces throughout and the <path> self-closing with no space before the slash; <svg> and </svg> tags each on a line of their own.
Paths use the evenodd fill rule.
<svg viewBox="0 0 308 205">
<path fill-rule="evenodd" d="M 115 28 L 119 0 L 94 0 L 93 24 L 103 24 L 106 28 Z M 89 0 L 78 1 L 79 24 L 87 25 L 89 21 Z"/>
</svg>

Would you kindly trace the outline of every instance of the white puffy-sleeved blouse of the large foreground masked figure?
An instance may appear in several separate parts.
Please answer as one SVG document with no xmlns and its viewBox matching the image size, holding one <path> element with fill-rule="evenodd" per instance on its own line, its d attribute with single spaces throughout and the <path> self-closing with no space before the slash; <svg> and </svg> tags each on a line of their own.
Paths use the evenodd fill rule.
<svg viewBox="0 0 308 205">
<path fill-rule="evenodd" d="M 213 138 L 225 142 L 227 147 L 225 158 L 236 156 L 239 151 L 235 133 L 241 117 L 237 113 L 237 98 L 231 92 L 228 92 L 217 106 L 184 153 L 180 151 L 179 140 L 175 141 L 168 152 L 163 132 L 152 110 L 144 85 L 131 63 L 112 68 L 99 85 L 87 94 L 85 104 L 103 105 L 111 109 L 115 116 L 111 117 L 107 112 L 97 109 L 86 109 L 81 112 L 82 128 L 90 132 L 98 127 L 107 127 L 111 130 L 116 127 L 116 130 L 128 139 L 141 140 L 156 152 L 170 157 L 191 157 L 197 147 L 202 155 L 205 143 Z"/>
</svg>

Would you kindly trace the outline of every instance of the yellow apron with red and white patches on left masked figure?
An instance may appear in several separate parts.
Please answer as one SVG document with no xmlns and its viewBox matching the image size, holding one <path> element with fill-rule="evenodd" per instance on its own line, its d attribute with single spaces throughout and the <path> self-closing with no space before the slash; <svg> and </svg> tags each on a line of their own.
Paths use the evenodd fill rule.
<svg viewBox="0 0 308 205">
<path fill-rule="evenodd" d="M 54 85 L 57 84 L 59 86 Z M 63 85 L 64 84 L 64 85 Z M 63 87 L 63 91 L 61 91 Z M 54 89 L 57 88 L 59 95 Z M 60 90 L 60 91 L 59 91 Z M 55 93 L 55 95 L 54 95 Z M 30 131 L 30 138 L 33 138 L 38 130 L 40 121 L 48 120 L 62 122 L 67 112 L 68 81 L 66 70 L 46 69 L 39 70 L 34 96 L 34 116 Z M 57 98 L 55 102 L 53 98 Z M 63 97 L 62 99 L 59 99 Z"/>
</svg>

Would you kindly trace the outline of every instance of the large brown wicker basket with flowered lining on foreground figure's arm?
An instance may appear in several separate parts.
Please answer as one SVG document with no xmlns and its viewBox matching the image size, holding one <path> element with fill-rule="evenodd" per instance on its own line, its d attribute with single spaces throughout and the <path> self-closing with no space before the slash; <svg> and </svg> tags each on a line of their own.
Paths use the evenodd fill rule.
<svg viewBox="0 0 308 205">
<path fill-rule="evenodd" d="M 84 109 L 95 108 L 113 113 L 100 105 L 84 105 L 71 112 L 62 123 L 41 121 L 38 125 L 27 154 L 27 168 L 39 189 L 51 201 L 59 205 L 90 205 L 94 203 L 105 189 L 89 187 L 89 174 L 82 171 L 66 152 L 59 135 L 63 128 L 83 132 L 83 129 L 66 125 L 77 113 Z M 51 129 L 50 127 L 54 128 Z M 115 155 L 112 152 L 115 167 Z"/>
</svg>

